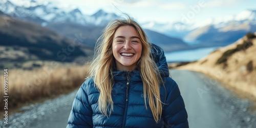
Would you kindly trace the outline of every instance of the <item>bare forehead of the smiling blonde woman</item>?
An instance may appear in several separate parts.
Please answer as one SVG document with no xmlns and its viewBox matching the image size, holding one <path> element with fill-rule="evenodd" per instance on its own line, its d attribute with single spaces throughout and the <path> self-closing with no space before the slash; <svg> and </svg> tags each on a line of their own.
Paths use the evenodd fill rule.
<svg viewBox="0 0 256 128">
<path fill-rule="evenodd" d="M 131 36 L 138 36 L 138 33 L 136 29 L 133 26 L 120 26 L 116 32 L 115 32 L 115 37 L 116 36 L 124 36 L 124 37 L 131 37 Z"/>
</svg>

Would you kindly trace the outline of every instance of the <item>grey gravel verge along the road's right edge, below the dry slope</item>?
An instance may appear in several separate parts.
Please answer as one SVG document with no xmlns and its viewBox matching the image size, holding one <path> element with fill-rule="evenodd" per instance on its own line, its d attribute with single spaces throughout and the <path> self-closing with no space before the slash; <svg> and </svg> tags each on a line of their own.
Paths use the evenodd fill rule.
<svg viewBox="0 0 256 128">
<path fill-rule="evenodd" d="M 216 104 L 224 110 L 230 120 L 233 128 L 255 128 L 256 127 L 256 111 L 252 111 L 253 103 L 248 99 L 241 99 L 233 92 L 225 89 L 223 86 L 215 86 L 212 92 L 218 98 L 214 98 Z"/>
</svg>

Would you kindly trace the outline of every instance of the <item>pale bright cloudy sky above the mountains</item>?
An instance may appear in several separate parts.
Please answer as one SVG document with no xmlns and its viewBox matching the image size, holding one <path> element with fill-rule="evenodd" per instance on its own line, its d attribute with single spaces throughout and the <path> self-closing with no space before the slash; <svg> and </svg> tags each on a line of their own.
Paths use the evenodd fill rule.
<svg viewBox="0 0 256 128">
<path fill-rule="evenodd" d="M 19 1 L 19 0 L 13 0 Z M 30 1 L 25 0 L 23 2 Z M 37 0 L 38 1 L 38 0 Z M 40 0 L 39 0 L 40 1 Z M 99 9 L 120 15 L 125 12 L 139 22 L 199 22 L 202 20 L 235 15 L 241 11 L 256 10 L 255 0 L 48 0 L 60 7 L 78 7 L 84 14 Z M 19 1 L 20 2 L 20 1 Z M 185 20 L 189 19 L 189 20 Z"/>
</svg>

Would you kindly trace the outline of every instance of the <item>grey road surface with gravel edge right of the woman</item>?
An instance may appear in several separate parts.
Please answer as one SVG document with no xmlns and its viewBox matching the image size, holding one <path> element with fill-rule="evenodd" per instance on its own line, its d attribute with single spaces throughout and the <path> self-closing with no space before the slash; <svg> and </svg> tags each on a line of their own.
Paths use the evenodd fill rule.
<svg viewBox="0 0 256 128">
<path fill-rule="evenodd" d="M 189 127 L 256 127 L 256 112 L 248 109 L 252 106 L 250 100 L 239 99 L 221 83 L 201 73 L 184 70 L 170 73 L 183 96 Z"/>
</svg>

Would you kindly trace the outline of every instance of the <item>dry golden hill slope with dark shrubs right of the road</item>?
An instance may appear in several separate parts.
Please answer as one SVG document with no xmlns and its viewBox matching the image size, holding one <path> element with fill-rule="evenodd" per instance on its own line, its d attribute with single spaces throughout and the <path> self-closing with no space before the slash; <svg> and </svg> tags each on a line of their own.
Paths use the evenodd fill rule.
<svg viewBox="0 0 256 128">
<path fill-rule="evenodd" d="M 256 98 L 256 35 L 248 33 L 233 44 L 179 69 L 199 71 L 227 88 Z"/>
</svg>

